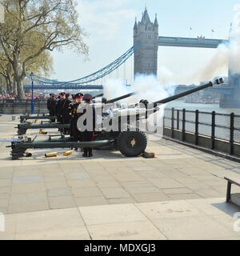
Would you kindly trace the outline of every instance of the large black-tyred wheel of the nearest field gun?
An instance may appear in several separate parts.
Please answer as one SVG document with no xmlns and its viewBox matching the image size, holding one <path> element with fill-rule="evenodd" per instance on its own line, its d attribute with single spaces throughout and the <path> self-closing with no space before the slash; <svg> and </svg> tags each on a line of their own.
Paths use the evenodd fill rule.
<svg viewBox="0 0 240 256">
<path fill-rule="evenodd" d="M 118 135 L 117 148 L 126 157 L 137 157 L 146 150 L 146 134 L 141 130 L 123 131 Z"/>
</svg>

